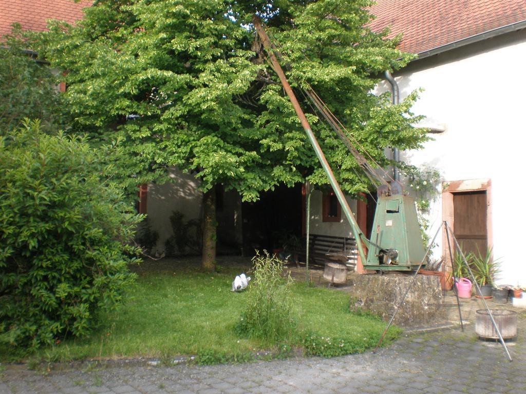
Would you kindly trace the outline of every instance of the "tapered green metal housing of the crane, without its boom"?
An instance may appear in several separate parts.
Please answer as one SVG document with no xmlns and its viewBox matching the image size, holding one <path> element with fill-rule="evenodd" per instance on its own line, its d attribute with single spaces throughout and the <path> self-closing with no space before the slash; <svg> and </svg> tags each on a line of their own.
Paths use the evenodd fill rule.
<svg viewBox="0 0 526 394">
<path fill-rule="evenodd" d="M 366 269 L 412 271 L 424 254 L 414 200 L 406 195 L 378 198 Z"/>
</svg>

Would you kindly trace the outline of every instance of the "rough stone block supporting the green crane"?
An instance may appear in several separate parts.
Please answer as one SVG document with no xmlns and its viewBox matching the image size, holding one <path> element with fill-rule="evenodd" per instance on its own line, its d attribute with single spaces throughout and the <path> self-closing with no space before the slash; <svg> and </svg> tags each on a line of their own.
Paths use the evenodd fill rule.
<svg viewBox="0 0 526 394">
<path fill-rule="evenodd" d="M 406 293 L 413 274 L 356 275 L 350 286 L 350 310 L 367 310 L 388 322 Z M 436 276 L 417 275 L 393 321 L 406 328 L 432 327 L 446 323 L 440 281 Z"/>
</svg>

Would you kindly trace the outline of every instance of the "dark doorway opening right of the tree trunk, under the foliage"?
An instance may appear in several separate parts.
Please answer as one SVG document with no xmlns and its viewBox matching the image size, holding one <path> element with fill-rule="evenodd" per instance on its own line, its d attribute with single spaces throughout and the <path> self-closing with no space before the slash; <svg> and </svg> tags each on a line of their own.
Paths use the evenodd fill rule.
<svg viewBox="0 0 526 394">
<path fill-rule="evenodd" d="M 285 235 L 301 237 L 301 183 L 292 188 L 276 186 L 263 192 L 256 202 L 241 204 L 243 253 L 281 247 Z"/>
</svg>

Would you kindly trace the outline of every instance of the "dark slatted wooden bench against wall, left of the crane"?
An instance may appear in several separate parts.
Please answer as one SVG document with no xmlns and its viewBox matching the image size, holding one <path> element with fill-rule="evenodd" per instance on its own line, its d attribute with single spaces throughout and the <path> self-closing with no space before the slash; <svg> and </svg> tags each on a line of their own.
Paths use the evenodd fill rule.
<svg viewBox="0 0 526 394">
<path fill-rule="evenodd" d="M 296 264 L 305 264 L 307 250 L 305 238 L 301 246 L 294 251 Z M 348 237 L 332 235 L 309 235 L 309 266 L 325 267 L 325 263 L 336 262 L 347 265 L 352 270 L 356 268 L 358 253 L 356 240 Z"/>
</svg>

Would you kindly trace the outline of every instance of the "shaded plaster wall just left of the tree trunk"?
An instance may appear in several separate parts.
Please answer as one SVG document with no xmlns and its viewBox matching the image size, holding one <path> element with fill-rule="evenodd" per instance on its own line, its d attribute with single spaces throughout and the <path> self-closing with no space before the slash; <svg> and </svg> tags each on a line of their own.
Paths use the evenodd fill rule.
<svg viewBox="0 0 526 394">
<path fill-rule="evenodd" d="M 170 224 L 172 211 L 185 214 L 185 220 L 200 216 L 203 193 L 198 190 L 199 181 L 191 174 L 185 174 L 175 168 L 169 170 L 170 183 L 163 185 L 148 184 L 148 202 L 146 210 L 151 229 L 159 233 L 156 251 L 162 253 L 166 240 L 173 234 Z"/>
</svg>

